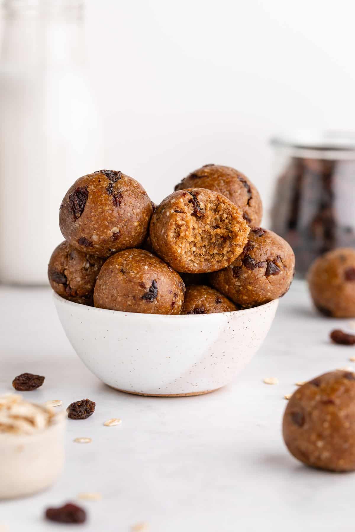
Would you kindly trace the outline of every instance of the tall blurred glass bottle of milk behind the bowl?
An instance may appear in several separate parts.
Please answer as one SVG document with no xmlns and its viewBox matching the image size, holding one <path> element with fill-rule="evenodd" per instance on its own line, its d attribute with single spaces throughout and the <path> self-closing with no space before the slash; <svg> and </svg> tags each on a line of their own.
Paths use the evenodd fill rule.
<svg viewBox="0 0 355 532">
<path fill-rule="evenodd" d="M 47 283 L 62 198 L 102 167 L 82 2 L 7 0 L 0 63 L 0 282 Z"/>
</svg>

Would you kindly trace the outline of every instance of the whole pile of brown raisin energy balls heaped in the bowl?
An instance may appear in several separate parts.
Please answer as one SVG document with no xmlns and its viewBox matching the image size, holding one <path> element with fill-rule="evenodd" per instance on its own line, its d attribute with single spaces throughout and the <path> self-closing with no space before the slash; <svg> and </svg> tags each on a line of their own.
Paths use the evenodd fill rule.
<svg viewBox="0 0 355 532">
<path fill-rule="evenodd" d="M 53 290 L 75 303 L 148 314 L 237 311 L 283 296 L 290 245 L 262 229 L 258 190 L 234 168 L 207 164 L 156 208 L 115 170 L 80 177 L 65 194 L 65 242 L 48 265 Z M 186 288 L 185 288 L 186 285 Z"/>
</svg>

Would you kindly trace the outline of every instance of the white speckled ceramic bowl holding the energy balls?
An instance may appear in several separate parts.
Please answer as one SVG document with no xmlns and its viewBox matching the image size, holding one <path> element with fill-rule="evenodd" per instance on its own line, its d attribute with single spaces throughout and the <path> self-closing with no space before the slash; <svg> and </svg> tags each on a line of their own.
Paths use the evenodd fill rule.
<svg viewBox="0 0 355 532">
<path fill-rule="evenodd" d="M 245 368 L 265 339 L 278 300 L 218 314 L 160 315 L 95 309 L 53 293 L 59 319 L 86 367 L 122 392 L 212 392 Z"/>
</svg>

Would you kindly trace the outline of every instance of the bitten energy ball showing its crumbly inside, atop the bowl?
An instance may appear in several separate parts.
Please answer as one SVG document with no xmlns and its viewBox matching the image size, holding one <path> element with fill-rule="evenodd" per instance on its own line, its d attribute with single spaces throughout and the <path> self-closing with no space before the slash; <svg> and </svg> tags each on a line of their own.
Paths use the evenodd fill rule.
<svg viewBox="0 0 355 532">
<path fill-rule="evenodd" d="M 242 252 L 249 227 L 237 207 L 212 190 L 178 190 L 153 214 L 153 249 L 172 268 L 204 273 L 225 268 Z"/>
</svg>

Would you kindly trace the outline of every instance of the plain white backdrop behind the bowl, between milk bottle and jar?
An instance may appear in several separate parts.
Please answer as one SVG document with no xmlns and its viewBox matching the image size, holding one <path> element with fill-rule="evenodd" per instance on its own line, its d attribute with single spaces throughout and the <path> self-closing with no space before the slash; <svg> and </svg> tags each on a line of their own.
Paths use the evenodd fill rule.
<svg viewBox="0 0 355 532">
<path fill-rule="evenodd" d="M 273 190 L 268 139 L 354 128 L 349 0 L 89 0 L 87 52 L 105 164 L 159 202 L 205 163 Z"/>
</svg>

